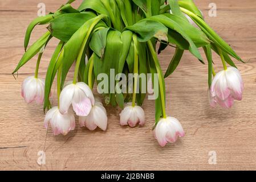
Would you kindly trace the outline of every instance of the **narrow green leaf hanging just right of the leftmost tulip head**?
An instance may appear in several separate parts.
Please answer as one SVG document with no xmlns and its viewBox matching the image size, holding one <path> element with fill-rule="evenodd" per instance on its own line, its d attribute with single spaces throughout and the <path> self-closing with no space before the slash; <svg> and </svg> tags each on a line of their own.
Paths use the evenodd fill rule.
<svg viewBox="0 0 256 182">
<path fill-rule="evenodd" d="M 60 54 L 60 51 L 62 50 L 63 46 L 64 46 L 63 42 L 60 42 L 58 44 L 58 46 L 56 47 L 56 49 L 51 57 L 50 63 L 48 65 L 46 78 L 45 78 L 45 85 L 44 85 L 44 105 L 43 105 L 44 110 L 46 109 L 46 107 L 47 107 L 47 109 L 49 109 L 50 105 L 51 105 L 49 97 L 50 97 L 52 83 L 54 82 L 54 77 L 56 75 L 56 71 L 54 71 L 54 69 L 58 70 L 58 68 L 55 68 L 55 66 L 56 66 L 56 62 L 58 61 L 59 54 Z"/>
</svg>

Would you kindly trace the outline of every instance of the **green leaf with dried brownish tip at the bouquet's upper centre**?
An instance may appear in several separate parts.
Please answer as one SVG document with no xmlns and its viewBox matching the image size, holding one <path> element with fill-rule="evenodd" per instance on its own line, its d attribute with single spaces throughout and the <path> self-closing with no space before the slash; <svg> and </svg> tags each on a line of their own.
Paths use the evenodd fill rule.
<svg viewBox="0 0 256 182">
<path fill-rule="evenodd" d="M 136 32 L 139 42 L 147 42 L 153 37 L 168 41 L 168 28 L 157 20 L 141 20 L 126 29 Z"/>
</svg>

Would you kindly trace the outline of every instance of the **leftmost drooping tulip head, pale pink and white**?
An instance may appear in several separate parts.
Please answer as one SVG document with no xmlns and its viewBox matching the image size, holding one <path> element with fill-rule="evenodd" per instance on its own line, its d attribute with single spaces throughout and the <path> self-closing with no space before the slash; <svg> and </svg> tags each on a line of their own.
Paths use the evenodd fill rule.
<svg viewBox="0 0 256 182">
<path fill-rule="evenodd" d="M 34 76 L 27 77 L 23 81 L 21 95 L 27 103 L 36 101 L 38 104 L 43 104 L 44 80 Z"/>
</svg>

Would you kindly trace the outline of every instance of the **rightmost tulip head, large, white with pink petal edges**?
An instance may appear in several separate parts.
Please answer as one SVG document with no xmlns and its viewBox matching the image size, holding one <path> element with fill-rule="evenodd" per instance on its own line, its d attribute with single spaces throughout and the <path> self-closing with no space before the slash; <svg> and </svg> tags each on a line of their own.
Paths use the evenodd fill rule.
<svg viewBox="0 0 256 182">
<path fill-rule="evenodd" d="M 214 76 L 209 92 L 210 105 L 230 108 L 234 100 L 242 100 L 242 92 L 243 80 L 238 69 L 229 67 Z"/>
</svg>

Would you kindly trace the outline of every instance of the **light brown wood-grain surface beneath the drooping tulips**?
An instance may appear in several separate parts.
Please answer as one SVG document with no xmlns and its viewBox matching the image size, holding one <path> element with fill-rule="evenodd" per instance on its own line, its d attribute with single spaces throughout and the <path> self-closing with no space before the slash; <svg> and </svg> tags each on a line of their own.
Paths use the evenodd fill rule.
<svg viewBox="0 0 256 182">
<path fill-rule="evenodd" d="M 77 126 L 66 137 L 54 137 L 51 129 L 44 129 L 42 106 L 27 105 L 21 97 L 22 81 L 34 73 L 36 58 L 19 71 L 17 80 L 10 74 L 21 59 L 26 27 L 36 18 L 41 2 L 50 12 L 66 1 L 0 1 L 0 169 L 256 169 L 256 1 L 195 1 L 206 22 L 246 61 L 236 62 L 245 91 L 243 100 L 235 102 L 230 110 L 210 108 L 207 65 L 186 52 L 177 71 L 166 79 L 167 113 L 179 119 L 186 136 L 164 148 L 151 132 L 154 101 L 146 101 L 143 106 L 147 119 L 144 127 L 121 127 L 120 110 L 107 107 L 106 132 Z M 217 4 L 217 17 L 211 18 L 208 5 L 212 2 Z M 31 42 L 39 38 L 44 27 L 35 28 Z M 40 77 L 45 76 L 56 44 L 56 40 L 51 41 L 43 55 Z M 173 49 L 169 48 L 159 56 L 163 69 L 172 55 Z M 220 71 L 221 61 L 216 55 L 214 62 Z M 56 100 L 55 96 L 52 100 Z M 45 165 L 37 163 L 39 151 L 46 152 Z M 209 164 L 210 151 L 217 154 L 216 165 Z"/>
</svg>

